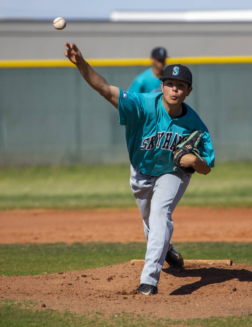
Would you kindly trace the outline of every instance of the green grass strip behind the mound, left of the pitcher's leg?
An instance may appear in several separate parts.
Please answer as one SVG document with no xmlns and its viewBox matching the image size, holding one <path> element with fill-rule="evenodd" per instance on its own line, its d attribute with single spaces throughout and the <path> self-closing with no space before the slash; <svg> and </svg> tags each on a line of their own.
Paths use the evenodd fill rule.
<svg viewBox="0 0 252 327">
<path fill-rule="evenodd" d="M 36 275 L 144 258 L 146 243 L 0 244 L 0 275 Z"/>
</svg>

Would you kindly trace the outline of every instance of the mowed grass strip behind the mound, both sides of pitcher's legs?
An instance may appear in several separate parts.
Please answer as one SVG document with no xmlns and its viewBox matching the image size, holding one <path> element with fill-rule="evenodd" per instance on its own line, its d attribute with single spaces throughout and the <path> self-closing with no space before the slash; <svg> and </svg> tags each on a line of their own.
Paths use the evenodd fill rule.
<svg viewBox="0 0 252 327">
<path fill-rule="evenodd" d="M 252 243 L 186 242 L 174 244 L 184 259 L 232 259 L 252 264 Z M 37 275 L 115 265 L 144 259 L 145 242 L 0 244 L 0 275 Z"/>
</svg>

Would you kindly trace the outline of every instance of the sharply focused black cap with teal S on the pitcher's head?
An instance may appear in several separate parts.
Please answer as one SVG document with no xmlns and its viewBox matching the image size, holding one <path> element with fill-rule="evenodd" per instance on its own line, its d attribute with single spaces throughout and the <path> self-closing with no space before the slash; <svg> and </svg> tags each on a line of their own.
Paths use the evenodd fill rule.
<svg viewBox="0 0 252 327">
<path fill-rule="evenodd" d="M 166 78 L 175 78 L 187 82 L 190 85 L 193 84 L 193 76 L 190 69 L 180 64 L 166 66 L 163 76 L 160 77 L 160 81 L 164 81 Z"/>
</svg>

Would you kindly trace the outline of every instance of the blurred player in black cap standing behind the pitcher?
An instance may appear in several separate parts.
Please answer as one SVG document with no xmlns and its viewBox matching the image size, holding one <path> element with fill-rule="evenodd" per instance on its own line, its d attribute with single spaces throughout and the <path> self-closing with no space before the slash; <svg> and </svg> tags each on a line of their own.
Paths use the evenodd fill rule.
<svg viewBox="0 0 252 327">
<path fill-rule="evenodd" d="M 151 52 L 152 67 L 138 75 L 128 88 L 128 92 L 151 93 L 161 92 L 160 77 L 163 75 L 166 49 L 163 47 L 154 48 Z"/>
</svg>

